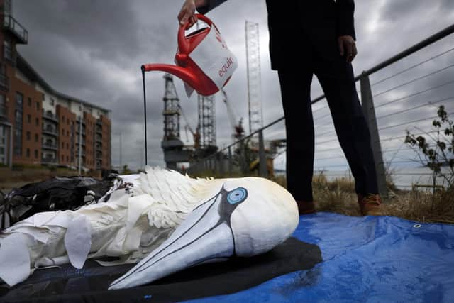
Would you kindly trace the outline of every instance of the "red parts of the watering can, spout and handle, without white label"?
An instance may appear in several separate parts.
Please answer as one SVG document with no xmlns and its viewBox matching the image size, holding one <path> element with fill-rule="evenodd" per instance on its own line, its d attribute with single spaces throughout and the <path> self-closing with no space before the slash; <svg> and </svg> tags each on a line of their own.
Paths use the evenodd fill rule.
<svg viewBox="0 0 454 303">
<path fill-rule="evenodd" d="M 207 18 L 204 15 L 196 14 L 197 18 L 201 21 L 204 21 L 209 27 L 202 28 L 201 30 L 185 35 L 184 31 L 189 28 L 189 22 L 180 26 L 178 30 L 178 49 L 177 54 L 175 55 L 175 63 L 177 65 L 168 65 L 168 64 L 145 64 L 142 65 L 142 72 L 150 72 L 152 70 L 160 70 L 162 72 L 169 72 L 172 75 L 175 75 L 182 79 L 186 84 L 195 89 L 199 94 L 203 96 L 210 96 L 219 91 L 219 87 L 215 82 L 206 75 L 201 68 L 196 65 L 196 62 L 192 60 L 192 57 L 189 57 L 189 54 L 200 45 L 202 40 L 210 33 L 210 31 L 216 31 L 216 39 L 221 43 L 222 48 L 226 48 L 226 45 L 223 43 L 223 40 L 220 35 L 218 35 L 218 29 L 214 25 L 213 21 Z M 232 58 L 227 58 L 226 62 L 218 68 L 218 74 L 222 77 L 223 71 L 227 70 L 233 65 Z M 234 67 L 233 67 L 234 68 Z M 231 78 L 229 76 L 227 79 L 222 79 L 221 82 L 225 85 L 228 80 Z M 222 87 L 223 87 L 222 85 Z"/>
</svg>

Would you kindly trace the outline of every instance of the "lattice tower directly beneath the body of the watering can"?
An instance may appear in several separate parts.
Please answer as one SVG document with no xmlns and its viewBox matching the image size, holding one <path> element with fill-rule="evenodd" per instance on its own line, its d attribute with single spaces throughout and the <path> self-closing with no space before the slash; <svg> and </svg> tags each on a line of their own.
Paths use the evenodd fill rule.
<svg viewBox="0 0 454 303">
<path fill-rule="evenodd" d="M 200 133 L 200 148 L 208 155 L 216 152 L 216 104 L 214 95 L 205 97 L 199 95 L 199 123 L 197 131 Z"/>
</svg>

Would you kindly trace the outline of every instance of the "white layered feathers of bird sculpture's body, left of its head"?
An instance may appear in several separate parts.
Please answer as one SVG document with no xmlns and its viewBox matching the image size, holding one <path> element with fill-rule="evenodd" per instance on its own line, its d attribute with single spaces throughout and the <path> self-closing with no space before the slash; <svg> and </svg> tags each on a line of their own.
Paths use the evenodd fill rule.
<svg viewBox="0 0 454 303">
<path fill-rule="evenodd" d="M 29 266 L 22 266 L 22 271 L 28 268 L 28 272 L 21 272 L 18 277 L 28 277 L 33 268 L 67 262 L 82 268 L 86 258 L 105 255 L 121 258 L 114 263 L 100 262 L 102 265 L 138 262 L 217 190 L 216 180 L 192 179 L 159 167 L 125 176 L 123 182 L 128 186 L 116 184 L 105 203 L 83 206 L 77 211 L 35 214 L 6 228 L 0 233 L 0 268 L 7 268 L 7 262 L 20 257 L 16 261 Z M 14 234 L 22 235 L 28 260 L 25 255 L 17 257 L 11 250 L 1 249 L 2 241 Z M 75 249 L 74 243 L 84 249 Z M 0 270 L 0 278 L 9 284 L 20 282 L 22 278 L 18 277 L 11 279 L 11 273 Z"/>
</svg>

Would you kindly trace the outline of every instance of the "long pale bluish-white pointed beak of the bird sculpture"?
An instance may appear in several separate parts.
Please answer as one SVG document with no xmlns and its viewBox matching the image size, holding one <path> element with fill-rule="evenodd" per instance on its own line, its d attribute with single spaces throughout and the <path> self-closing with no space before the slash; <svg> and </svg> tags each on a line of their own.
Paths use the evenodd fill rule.
<svg viewBox="0 0 454 303">
<path fill-rule="evenodd" d="M 230 220 L 221 211 L 221 192 L 194 209 L 170 238 L 112 282 L 109 290 L 143 285 L 185 268 L 231 257 L 233 233 Z"/>
</svg>

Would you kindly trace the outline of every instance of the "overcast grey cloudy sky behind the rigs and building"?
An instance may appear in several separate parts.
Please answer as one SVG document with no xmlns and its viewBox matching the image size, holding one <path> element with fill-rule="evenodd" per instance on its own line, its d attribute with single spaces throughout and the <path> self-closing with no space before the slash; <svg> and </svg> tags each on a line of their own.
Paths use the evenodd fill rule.
<svg viewBox="0 0 454 303">
<path fill-rule="evenodd" d="M 119 163 L 119 138 L 123 133 L 123 164 L 138 167 L 143 162 L 143 99 L 140 65 L 143 63 L 171 63 L 177 48 L 177 13 L 182 0 L 13 0 L 13 15 L 28 29 L 28 45 L 20 45 L 19 52 L 40 75 L 55 89 L 112 110 L 112 163 Z M 229 48 L 239 61 L 231 81 L 226 87 L 236 114 L 247 119 L 247 81 L 245 60 L 245 20 L 260 24 L 260 56 L 262 67 L 262 104 L 264 123 L 282 116 L 277 73 L 270 70 L 267 43 L 267 11 L 262 0 L 230 0 L 208 15 L 216 23 Z M 354 61 L 355 74 L 367 70 L 401 50 L 441 31 L 454 23 L 452 0 L 361 0 L 356 1 L 355 26 L 358 56 Z M 405 60 L 377 72 L 371 77 L 375 83 L 389 75 L 405 70 L 430 57 L 454 47 L 454 35 L 407 57 Z M 408 72 L 372 87 L 375 104 L 406 97 L 454 80 L 454 51 L 445 53 Z M 437 72 L 444 67 L 445 70 Z M 430 77 L 409 82 L 428 73 Z M 182 82 L 175 80 L 182 109 L 192 128 L 196 126 L 196 97 L 187 99 Z M 453 84 L 431 89 L 414 97 L 377 108 L 377 116 L 395 113 L 439 99 L 454 96 Z M 359 86 L 358 86 L 359 89 Z M 147 74 L 148 91 L 148 162 L 163 165 L 160 149 L 162 139 L 162 97 L 164 79 L 162 73 Z M 312 96 L 322 94 L 314 78 Z M 221 96 L 216 102 L 218 145 L 231 142 L 231 129 Z M 454 99 L 446 99 L 433 106 L 406 111 L 379 119 L 382 138 L 404 136 L 405 129 L 414 126 L 427 127 L 430 121 L 420 121 L 402 127 L 399 123 L 424 119 L 435 115 L 436 106 L 445 104 L 454 110 Z M 314 105 L 316 119 L 316 167 L 342 167 L 345 162 L 338 157 L 340 150 L 333 133 L 326 101 Z M 181 121 L 182 129 L 184 121 Z M 426 123 L 426 124 L 424 124 Z M 427 124 L 428 123 L 428 124 Z M 392 127 L 389 127 L 392 126 Z M 386 128 L 389 127 L 389 128 Z M 417 130 L 414 132 L 418 133 Z M 265 133 L 265 138 L 284 138 L 283 123 Z M 182 131 L 182 141 L 191 144 Z M 385 158 L 408 160 L 402 148 L 402 139 L 382 142 Z M 332 160 L 333 157 L 338 159 Z M 331 159 L 326 159 L 331 158 Z M 276 164 L 284 165 L 279 156 Z M 324 161 L 324 162 L 323 162 Z M 338 162 L 336 162 L 338 161 Z"/>
</svg>

